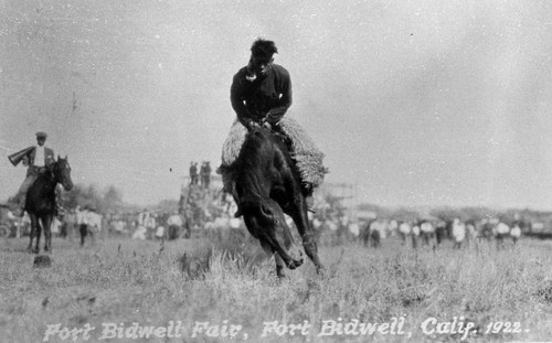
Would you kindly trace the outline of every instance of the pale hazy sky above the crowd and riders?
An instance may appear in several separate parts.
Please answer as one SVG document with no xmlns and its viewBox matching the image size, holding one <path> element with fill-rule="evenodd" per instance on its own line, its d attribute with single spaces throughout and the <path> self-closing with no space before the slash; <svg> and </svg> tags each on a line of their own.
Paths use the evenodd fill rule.
<svg viewBox="0 0 552 343">
<path fill-rule="evenodd" d="M 274 40 L 328 184 L 360 202 L 552 211 L 550 1 L 0 0 L 0 152 L 178 199 L 220 163 L 233 75 Z M 23 167 L 0 159 L 0 201 Z"/>
</svg>

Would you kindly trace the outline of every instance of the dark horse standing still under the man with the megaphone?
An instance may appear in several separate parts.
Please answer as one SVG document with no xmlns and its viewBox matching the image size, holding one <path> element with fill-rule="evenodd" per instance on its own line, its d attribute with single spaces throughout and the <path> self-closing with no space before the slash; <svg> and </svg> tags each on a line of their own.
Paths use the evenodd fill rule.
<svg viewBox="0 0 552 343">
<path fill-rule="evenodd" d="M 51 225 L 55 213 L 55 186 L 61 183 L 66 191 L 73 189 L 71 180 L 71 167 L 67 157 L 57 161 L 50 170 L 41 174 L 26 192 L 25 211 L 31 217 L 31 237 L 29 253 L 39 254 L 39 243 L 42 229 L 44 231 L 44 251 L 52 251 Z M 33 238 L 36 245 L 33 250 Z"/>
</svg>

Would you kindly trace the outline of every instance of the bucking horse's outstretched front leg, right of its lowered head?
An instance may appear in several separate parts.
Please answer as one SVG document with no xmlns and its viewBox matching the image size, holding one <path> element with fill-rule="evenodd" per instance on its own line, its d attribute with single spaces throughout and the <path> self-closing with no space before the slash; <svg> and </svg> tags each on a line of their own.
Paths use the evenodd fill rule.
<svg viewBox="0 0 552 343">
<path fill-rule="evenodd" d="M 316 272 L 322 274 L 325 268 L 320 258 L 318 257 L 318 245 L 315 238 L 315 232 L 309 225 L 307 216 L 307 203 L 302 196 L 296 196 L 294 200 L 294 205 L 289 208 L 288 215 L 295 222 L 297 231 L 302 238 L 302 247 L 305 253 L 310 258 L 312 264 L 315 264 Z"/>
</svg>

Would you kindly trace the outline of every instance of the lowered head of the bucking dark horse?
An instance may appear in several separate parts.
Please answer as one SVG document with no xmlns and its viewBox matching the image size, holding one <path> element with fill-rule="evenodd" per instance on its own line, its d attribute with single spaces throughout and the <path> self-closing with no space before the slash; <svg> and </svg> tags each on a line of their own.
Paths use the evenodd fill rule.
<svg viewBox="0 0 552 343">
<path fill-rule="evenodd" d="M 302 265 L 302 253 L 294 242 L 284 212 L 272 199 L 242 203 L 243 217 L 250 233 L 263 248 L 278 253 L 289 269 Z"/>
</svg>

